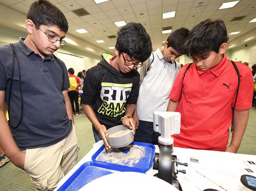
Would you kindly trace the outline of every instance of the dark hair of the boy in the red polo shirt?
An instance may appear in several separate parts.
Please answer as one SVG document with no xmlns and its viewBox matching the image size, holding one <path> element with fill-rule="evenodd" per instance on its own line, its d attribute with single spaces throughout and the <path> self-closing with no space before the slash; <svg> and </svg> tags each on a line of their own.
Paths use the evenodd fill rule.
<svg viewBox="0 0 256 191">
<path fill-rule="evenodd" d="M 223 20 L 206 19 L 190 31 L 184 46 L 188 48 L 190 56 L 199 56 L 211 51 L 218 53 L 220 45 L 228 39 Z"/>
</svg>

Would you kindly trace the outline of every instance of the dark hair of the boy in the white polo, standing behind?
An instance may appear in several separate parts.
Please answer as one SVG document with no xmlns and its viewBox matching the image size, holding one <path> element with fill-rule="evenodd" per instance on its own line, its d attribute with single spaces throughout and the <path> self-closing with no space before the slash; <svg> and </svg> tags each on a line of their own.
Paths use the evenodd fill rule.
<svg viewBox="0 0 256 191">
<path fill-rule="evenodd" d="M 167 48 L 172 47 L 176 51 L 181 52 L 182 55 L 188 54 L 188 50 L 185 46 L 183 46 L 186 38 L 188 38 L 189 30 L 187 28 L 180 28 L 174 31 L 168 38 L 167 38 Z"/>
</svg>

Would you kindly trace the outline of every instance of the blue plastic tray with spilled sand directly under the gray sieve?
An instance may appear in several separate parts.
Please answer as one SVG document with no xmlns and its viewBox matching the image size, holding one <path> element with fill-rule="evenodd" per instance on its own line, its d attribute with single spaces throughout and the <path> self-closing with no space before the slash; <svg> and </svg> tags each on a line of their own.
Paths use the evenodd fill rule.
<svg viewBox="0 0 256 191">
<path fill-rule="evenodd" d="M 138 153 L 131 154 L 131 157 L 128 156 L 131 147 L 137 147 Z M 130 145 L 118 149 L 118 155 L 116 153 L 108 153 L 103 151 L 104 145 L 102 145 L 96 153 L 92 156 L 94 162 L 111 164 L 118 167 L 125 167 L 132 170 L 146 172 L 151 169 L 153 165 L 153 158 L 155 154 L 155 146 L 149 143 L 142 142 L 133 142 Z M 139 146 L 139 147 L 138 147 Z M 143 150 L 143 151 L 142 151 Z M 103 151 L 103 152 L 102 152 Z M 102 153 L 101 153 L 102 152 Z M 141 154 L 141 152 L 143 154 Z M 117 157 L 115 157 L 117 156 Z M 117 159 L 118 158 L 118 159 Z"/>
</svg>

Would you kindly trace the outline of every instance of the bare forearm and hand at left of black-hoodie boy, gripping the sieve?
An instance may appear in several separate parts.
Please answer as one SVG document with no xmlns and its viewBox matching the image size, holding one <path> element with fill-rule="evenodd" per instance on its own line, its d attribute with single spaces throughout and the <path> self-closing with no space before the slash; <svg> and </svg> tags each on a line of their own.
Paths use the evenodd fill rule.
<svg viewBox="0 0 256 191">
<path fill-rule="evenodd" d="M 82 104 L 82 108 L 83 111 L 85 113 L 85 115 L 88 117 L 88 119 L 92 122 L 93 126 L 95 127 L 95 129 L 98 131 L 99 135 L 101 136 L 105 148 L 108 150 L 110 149 L 110 145 L 108 144 L 108 141 L 106 139 L 106 136 L 108 134 L 107 129 L 104 125 L 101 125 L 94 113 L 94 110 L 92 108 L 91 105 L 87 105 L 87 104 Z"/>
</svg>

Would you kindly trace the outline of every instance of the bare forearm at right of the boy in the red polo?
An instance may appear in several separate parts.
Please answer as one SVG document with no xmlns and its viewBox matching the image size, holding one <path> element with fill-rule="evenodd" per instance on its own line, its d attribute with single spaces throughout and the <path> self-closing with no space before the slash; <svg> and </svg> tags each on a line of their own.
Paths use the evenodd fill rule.
<svg viewBox="0 0 256 191">
<path fill-rule="evenodd" d="M 249 109 L 235 109 L 232 139 L 230 145 L 226 149 L 226 152 L 236 153 L 239 149 L 243 134 L 247 126 L 249 113 Z"/>
</svg>

